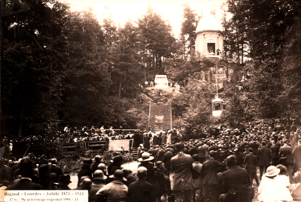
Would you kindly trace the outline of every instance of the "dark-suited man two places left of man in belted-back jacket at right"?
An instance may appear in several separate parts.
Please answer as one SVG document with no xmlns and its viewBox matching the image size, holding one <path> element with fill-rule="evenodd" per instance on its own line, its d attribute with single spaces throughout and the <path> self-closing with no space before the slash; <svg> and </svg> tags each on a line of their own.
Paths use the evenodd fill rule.
<svg viewBox="0 0 301 202">
<path fill-rule="evenodd" d="M 262 141 L 261 142 L 261 148 L 258 149 L 257 152 L 257 161 L 259 165 L 259 178 L 261 180 L 263 172 L 271 165 L 271 152 L 268 148 L 265 147 L 266 142 Z"/>
</svg>

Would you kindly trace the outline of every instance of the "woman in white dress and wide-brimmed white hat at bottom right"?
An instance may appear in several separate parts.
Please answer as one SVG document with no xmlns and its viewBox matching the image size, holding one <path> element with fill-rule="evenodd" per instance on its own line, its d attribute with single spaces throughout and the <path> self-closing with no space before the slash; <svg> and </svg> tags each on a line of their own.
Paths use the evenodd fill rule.
<svg viewBox="0 0 301 202">
<path fill-rule="evenodd" d="M 279 181 L 275 178 L 280 173 L 280 169 L 275 166 L 269 166 L 266 169 L 265 176 L 258 187 L 258 200 L 262 202 L 280 202 Z"/>
</svg>

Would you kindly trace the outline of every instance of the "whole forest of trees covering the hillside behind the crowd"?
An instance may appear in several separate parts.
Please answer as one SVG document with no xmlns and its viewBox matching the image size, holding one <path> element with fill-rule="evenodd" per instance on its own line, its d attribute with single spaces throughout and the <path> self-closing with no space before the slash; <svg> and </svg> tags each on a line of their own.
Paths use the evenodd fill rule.
<svg viewBox="0 0 301 202">
<path fill-rule="evenodd" d="M 46 134 L 45 128 L 66 125 L 142 127 L 146 118 L 120 98 L 139 92 L 155 74 L 168 74 L 182 86 L 173 101 L 178 127 L 190 133 L 209 123 L 215 91 L 200 74 L 215 64 L 194 51 L 202 14 L 188 4 L 176 39 L 151 6 L 117 26 L 112 16 L 98 22 L 93 9 L 27 2 L 28 11 L 1 17 L 1 134 Z M 300 7 L 293 0 L 226 1 L 223 8 L 232 17 L 222 20 L 225 60 L 243 67 L 247 58 L 252 68 L 243 92 L 225 83 L 223 121 L 237 126 L 300 112 Z"/>
</svg>

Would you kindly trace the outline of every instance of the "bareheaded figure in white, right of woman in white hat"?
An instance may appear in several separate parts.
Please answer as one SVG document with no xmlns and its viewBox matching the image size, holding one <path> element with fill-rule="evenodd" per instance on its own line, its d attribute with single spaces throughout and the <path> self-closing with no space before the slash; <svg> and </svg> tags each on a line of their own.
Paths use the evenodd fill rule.
<svg viewBox="0 0 301 202">
<path fill-rule="evenodd" d="M 284 165 L 277 165 L 276 168 L 280 169 L 280 173 L 276 176 L 276 179 L 279 181 L 279 195 L 280 200 L 282 201 L 293 201 L 293 197 L 290 195 L 290 190 L 288 189 L 290 186 L 290 179 L 284 174 L 287 171 L 287 168 Z"/>
</svg>

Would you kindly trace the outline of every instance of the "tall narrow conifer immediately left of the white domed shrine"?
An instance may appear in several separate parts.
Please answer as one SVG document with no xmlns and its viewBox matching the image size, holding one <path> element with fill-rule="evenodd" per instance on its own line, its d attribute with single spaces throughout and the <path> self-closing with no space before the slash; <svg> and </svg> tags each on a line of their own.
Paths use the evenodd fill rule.
<svg viewBox="0 0 301 202">
<path fill-rule="evenodd" d="M 183 21 L 181 23 L 181 34 L 185 44 L 188 42 L 189 51 L 188 54 L 191 54 L 192 49 L 194 49 L 195 43 L 195 30 L 197 29 L 197 23 L 200 20 L 200 16 L 195 13 L 195 10 L 191 10 L 191 7 L 188 4 L 182 4 L 183 8 Z"/>
</svg>

